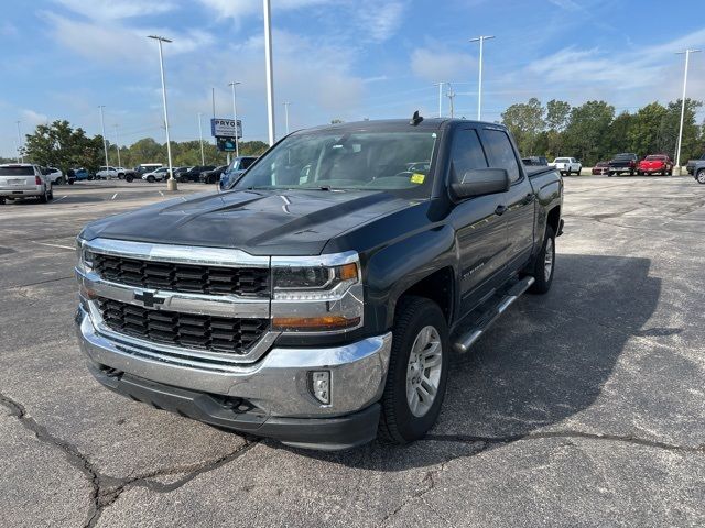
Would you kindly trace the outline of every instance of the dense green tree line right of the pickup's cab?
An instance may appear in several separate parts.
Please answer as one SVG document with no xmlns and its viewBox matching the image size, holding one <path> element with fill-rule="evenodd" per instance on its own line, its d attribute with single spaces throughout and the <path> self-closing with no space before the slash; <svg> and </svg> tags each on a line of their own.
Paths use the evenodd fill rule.
<svg viewBox="0 0 705 528">
<path fill-rule="evenodd" d="M 696 123 L 702 107 L 702 101 L 685 99 L 682 164 L 705 152 L 705 121 Z M 543 106 L 533 97 L 510 106 L 501 118 L 517 139 L 522 156 L 570 156 L 585 166 L 608 161 L 620 152 L 633 152 L 640 157 L 668 154 L 675 160 L 681 100 L 666 106 L 651 102 L 633 113 L 616 114 L 615 107 L 605 101 L 572 107 L 552 99 Z"/>
</svg>

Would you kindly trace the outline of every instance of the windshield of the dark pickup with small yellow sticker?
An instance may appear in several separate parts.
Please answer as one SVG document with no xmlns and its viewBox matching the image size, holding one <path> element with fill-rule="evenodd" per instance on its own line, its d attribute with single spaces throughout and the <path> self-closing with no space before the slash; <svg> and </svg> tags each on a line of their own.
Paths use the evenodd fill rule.
<svg viewBox="0 0 705 528">
<path fill-rule="evenodd" d="M 269 151 L 236 189 L 389 190 L 429 197 L 435 145 L 432 132 L 304 132 Z"/>
</svg>

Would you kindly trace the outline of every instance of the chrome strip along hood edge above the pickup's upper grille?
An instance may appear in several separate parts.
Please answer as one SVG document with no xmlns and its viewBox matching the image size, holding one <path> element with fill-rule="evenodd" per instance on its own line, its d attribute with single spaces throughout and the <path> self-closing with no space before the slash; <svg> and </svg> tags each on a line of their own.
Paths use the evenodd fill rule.
<svg viewBox="0 0 705 528">
<path fill-rule="evenodd" d="M 83 248 L 105 255 L 122 256 L 138 261 L 169 262 L 219 267 L 270 266 L 269 256 L 250 255 L 241 250 L 205 248 L 199 245 L 152 244 L 112 239 L 77 239 Z"/>
</svg>

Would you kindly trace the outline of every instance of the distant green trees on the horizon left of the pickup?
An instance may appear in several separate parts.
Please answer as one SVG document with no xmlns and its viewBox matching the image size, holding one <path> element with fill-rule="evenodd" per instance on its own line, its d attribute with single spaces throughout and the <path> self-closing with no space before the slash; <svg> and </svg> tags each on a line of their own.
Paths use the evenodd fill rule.
<svg viewBox="0 0 705 528">
<path fill-rule="evenodd" d="M 107 146 L 111 166 L 131 168 L 141 163 L 167 163 L 166 143 L 158 143 L 152 138 L 120 146 L 119 164 L 118 145 L 107 142 Z M 218 151 L 213 142 L 204 141 L 203 147 L 206 165 L 226 164 L 227 154 Z M 240 155 L 259 155 L 267 148 L 268 144 L 262 141 L 240 142 Z M 200 141 L 172 141 L 171 150 L 175 167 L 200 165 Z M 64 172 L 77 167 L 96 172 L 106 163 L 102 136 L 89 138 L 80 127 L 74 129 L 66 120 L 39 124 L 33 133 L 26 134 L 22 155 L 26 162 L 58 167 Z M 7 160 L 8 163 L 12 161 Z"/>
</svg>

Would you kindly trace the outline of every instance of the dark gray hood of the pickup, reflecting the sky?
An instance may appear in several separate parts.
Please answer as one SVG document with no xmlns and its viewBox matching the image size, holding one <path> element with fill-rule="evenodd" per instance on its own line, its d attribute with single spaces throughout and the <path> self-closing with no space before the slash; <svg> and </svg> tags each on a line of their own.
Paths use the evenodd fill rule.
<svg viewBox="0 0 705 528">
<path fill-rule="evenodd" d="M 108 217 L 80 237 L 315 255 L 336 235 L 412 204 L 383 191 L 237 190 Z"/>
</svg>

